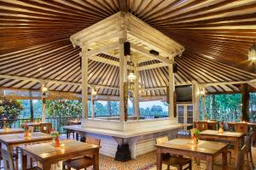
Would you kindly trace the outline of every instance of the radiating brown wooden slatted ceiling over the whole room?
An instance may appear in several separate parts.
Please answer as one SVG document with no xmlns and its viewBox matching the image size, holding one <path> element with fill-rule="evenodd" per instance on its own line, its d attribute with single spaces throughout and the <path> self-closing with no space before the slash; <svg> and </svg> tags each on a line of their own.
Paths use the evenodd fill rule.
<svg viewBox="0 0 256 170">
<path fill-rule="evenodd" d="M 131 12 L 185 47 L 183 56 L 176 58 L 177 84 L 256 78 L 255 65 L 247 61 L 247 50 L 256 41 L 255 0 L 0 0 L 0 75 L 80 83 L 80 49 L 73 48 L 69 37 L 120 10 Z M 90 60 L 90 83 L 113 87 L 100 88 L 99 94 L 118 95 L 118 69 Z M 140 71 L 142 87 L 149 88 L 144 95 L 166 94 L 161 87 L 166 86 L 167 74 L 165 67 Z M 29 80 L 0 78 L 3 88 L 40 86 Z M 55 91 L 81 90 L 75 84 L 47 86 Z M 207 90 L 239 89 L 216 86 Z"/>
</svg>

